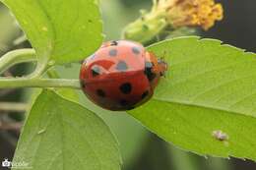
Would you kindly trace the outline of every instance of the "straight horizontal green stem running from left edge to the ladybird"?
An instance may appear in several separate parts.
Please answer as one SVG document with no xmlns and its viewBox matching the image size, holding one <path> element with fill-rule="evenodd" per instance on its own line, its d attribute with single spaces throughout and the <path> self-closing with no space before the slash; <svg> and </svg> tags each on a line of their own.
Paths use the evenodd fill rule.
<svg viewBox="0 0 256 170">
<path fill-rule="evenodd" d="M 79 80 L 66 79 L 29 79 L 29 78 L 1 78 L 0 88 L 17 87 L 70 87 L 80 88 Z"/>
</svg>

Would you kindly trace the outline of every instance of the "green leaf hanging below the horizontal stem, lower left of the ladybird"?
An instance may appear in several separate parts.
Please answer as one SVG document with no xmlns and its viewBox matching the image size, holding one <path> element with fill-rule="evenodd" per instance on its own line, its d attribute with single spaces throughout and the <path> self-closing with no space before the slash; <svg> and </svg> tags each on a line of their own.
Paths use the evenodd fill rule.
<svg viewBox="0 0 256 170">
<path fill-rule="evenodd" d="M 32 105 L 14 161 L 33 170 L 120 169 L 118 145 L 102 120 L 52 90 Z"/>
</svg>

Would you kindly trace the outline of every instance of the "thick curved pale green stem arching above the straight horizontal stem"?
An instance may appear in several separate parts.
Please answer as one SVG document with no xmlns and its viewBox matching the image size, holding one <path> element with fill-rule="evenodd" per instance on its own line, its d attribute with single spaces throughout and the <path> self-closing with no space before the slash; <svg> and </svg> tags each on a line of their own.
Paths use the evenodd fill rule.
<svg viewBox="0 0 256 170">
<path fill-rule="evenodd" d="M 16 64 L 32 61 L 36 61 L 33 49 L 18 49 L 8 52 L 0 58 L 0 74 Z"/>
</svg>

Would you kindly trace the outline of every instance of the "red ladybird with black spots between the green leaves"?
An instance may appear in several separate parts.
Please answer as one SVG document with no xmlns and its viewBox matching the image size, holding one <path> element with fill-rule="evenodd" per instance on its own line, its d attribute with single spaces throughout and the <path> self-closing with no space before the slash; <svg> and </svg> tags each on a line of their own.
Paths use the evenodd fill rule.
<svg viewBox="0 0 256 170">
<path fill-rule="evenodd" d="M 80 82 L 96 105 L 131 110 L 152 97 L 166 69 L 163 60 L 137 42 L 109 41 L 84 61 Z"/>
</svg>

